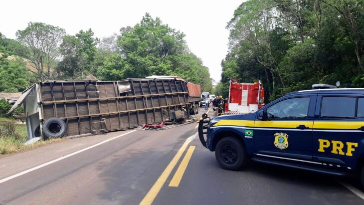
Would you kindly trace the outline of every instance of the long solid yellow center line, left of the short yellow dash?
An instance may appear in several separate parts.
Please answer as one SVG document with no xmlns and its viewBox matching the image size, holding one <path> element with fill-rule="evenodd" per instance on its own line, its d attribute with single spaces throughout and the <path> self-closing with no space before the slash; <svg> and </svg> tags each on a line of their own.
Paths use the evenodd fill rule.
<svg viewBox="0 0 364 205">
<path fill-rule="evenodd" d="M 170 176 L 173 168 L 175 168 L 176 164 L 180 160 L 184 150 L 186 150 L 188 144 L 194 139 L 194 137 L 196 137 L 196 134 L 188 137 L 186 139 L 186 141 L 184 141 L 180 150 L 177 152 L 177 154 L 172 159 L 170 164 L 168 164 L 166 169 L 163 171 L 161 176 L 158 178 L 156 183 L 154 183 L 153 187 L 149 190 L 149 192 L 147 193 L 147 195 L 144 197 L 144 199 L 142 200 L 142 202 L 139 205 L 151 205 L 153 203 L 154 199 L 157 197 L 158 193 L 161 191 L 163 185 L 166 183 L 166 180 Z"/>
</svg>

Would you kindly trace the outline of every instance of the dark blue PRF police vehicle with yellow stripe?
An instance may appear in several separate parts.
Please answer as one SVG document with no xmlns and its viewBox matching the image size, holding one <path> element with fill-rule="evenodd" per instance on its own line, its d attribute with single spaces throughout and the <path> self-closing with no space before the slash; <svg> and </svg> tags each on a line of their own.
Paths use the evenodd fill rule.
<svg viewBox="0 0 364 205">
<path fill-rule="evenodd" d="M 227 170 L 255 162 L 345 176 L 364 186 L 364 89 L 288 93 L 254 113 L 206 114 L 198 126 L 204 147 Z"/>
</svg>

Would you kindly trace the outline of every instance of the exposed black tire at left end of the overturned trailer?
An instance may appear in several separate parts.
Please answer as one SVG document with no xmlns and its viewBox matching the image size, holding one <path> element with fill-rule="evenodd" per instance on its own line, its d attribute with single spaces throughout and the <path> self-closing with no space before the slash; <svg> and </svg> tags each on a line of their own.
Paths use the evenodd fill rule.
<svg viewBox="0 0 364 205">
<path fill-rule="evenodd" d="M 59 118 L 49 118 L 44 121 L 43 126 L 43 134 L 48 138 L 59 138 L 63 137 L 67 132 L 66 123 Z"/>
</svg>

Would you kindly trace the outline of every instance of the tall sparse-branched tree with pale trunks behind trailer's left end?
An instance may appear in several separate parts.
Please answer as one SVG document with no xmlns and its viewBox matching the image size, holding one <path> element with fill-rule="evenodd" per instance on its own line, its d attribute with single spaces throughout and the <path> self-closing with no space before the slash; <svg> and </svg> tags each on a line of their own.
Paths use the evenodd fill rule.
<svg viewBox="0 0 364 205">
<path fill-rule="evenodd" d="M 29 22 L 24 30 L 16 32 L 17 40 L 27 46 L 26 57 L 37 70 L 38 78 L 51 79 L 51 67 L 60 56 L 59 46 L 66 34 L 63 28 L 39 22 Z M 45 69 L 47 76 L 44 74 Z"/>
</svg>

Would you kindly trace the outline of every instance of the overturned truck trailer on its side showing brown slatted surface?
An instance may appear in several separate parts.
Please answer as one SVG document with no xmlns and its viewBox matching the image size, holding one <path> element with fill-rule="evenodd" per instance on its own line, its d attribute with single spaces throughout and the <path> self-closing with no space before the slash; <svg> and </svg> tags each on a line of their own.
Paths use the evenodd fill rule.
<svg viewBox="0 0 364 205">
<path fill-rule="evenodd" d="M 28 139 L 95 134 L 189 118 L 198 112 L 198 89 L 170 77 L 46 81 L 25 90 L 9 112 L 23 104 Z"/>
</svg>

